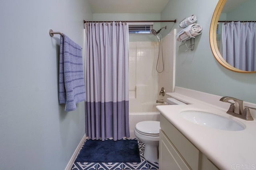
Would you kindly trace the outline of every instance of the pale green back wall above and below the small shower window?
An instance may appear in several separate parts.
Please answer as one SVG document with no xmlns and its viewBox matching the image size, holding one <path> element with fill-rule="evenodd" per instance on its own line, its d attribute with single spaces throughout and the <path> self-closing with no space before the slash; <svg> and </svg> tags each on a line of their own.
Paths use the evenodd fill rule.
<svg viewBox="0 0 256 170">
<path fill-rule="evenodd" d="M 148 20 L 160 20 L 159 14 L 93 14 L 94 21 L 148 21 Z M 160 23 L 155 22 L 154 27 L 156 31 L 160 29 Z M 156 36 L 150 35 L 129 35 L 129 41 L 158 41 Z"/>
</svg>

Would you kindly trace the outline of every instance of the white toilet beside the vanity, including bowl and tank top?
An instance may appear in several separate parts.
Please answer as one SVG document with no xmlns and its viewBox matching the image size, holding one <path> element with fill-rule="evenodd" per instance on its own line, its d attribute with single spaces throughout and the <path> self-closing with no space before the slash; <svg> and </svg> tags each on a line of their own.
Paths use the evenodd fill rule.
<svg viewBox="0 0 256 170">
<path fill-rule="evenodd" d="M 174 98 L 167 98 L 168 105 L 185 104 Z M 150 162 L 158 162 L 160 121 L 141 121 L 136 124 L 134 135 L 145 144 L 144 158 Z"/>
</svg>

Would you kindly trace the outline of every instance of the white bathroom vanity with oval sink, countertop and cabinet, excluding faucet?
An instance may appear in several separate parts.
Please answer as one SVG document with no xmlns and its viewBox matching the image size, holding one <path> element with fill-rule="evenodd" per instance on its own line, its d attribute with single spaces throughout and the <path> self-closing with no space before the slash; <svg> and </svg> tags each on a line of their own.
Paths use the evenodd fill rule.
<svg viewBox="0 0 256 170">
<path fill-rule="evenodd" d="M 220 102 L 221 96 L 211 98 L 207 94 L 196 94 L 199 98 L 207 98 L 202 102 L 202 99 L 192 98 L 194 95 L 168 95 L 188 105 L 156 107 L 160 111 L 161 128 L 159 170 L 256 169 L 255 120 L 246 121 L 228 115 L 229 104 Z M 244 106 L 253 107 L 254 104 L 245 102 Z M 216 118 L 210 119 L 213 123 L 207 127 L 191 122 L 182 114 L 190 111 L 214 115 Z M 251 113 L 255 119 L 255 111 Z M 234 123 L 234 126 L 230 126 L 230 123 Z"/>
</svg>

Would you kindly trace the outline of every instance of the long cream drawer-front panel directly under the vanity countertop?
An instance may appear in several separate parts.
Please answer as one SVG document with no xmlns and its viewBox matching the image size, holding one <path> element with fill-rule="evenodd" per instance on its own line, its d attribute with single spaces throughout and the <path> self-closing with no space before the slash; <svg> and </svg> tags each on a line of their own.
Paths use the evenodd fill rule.
<svg viewBox="0 0 256 170">
<path fill-rule="evenodd" d="M 160 115 L 160 127 L 180 152 L 193 170 L 199 169 L 200 151 L 190 142 L 176 127 L 174 127 L 163 115 Z"/>
</svg>

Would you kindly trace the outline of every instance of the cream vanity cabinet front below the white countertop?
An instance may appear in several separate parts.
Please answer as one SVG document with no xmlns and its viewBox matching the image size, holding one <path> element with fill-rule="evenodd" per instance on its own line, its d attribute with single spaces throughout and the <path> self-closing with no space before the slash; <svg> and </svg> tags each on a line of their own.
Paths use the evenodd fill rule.
<svg viewBox="0 0 256 170">
<path fill-rule="evenodd" d="M 162 114 L 160 127 L 159 170 L 218 170 Z"/>
</svg>

